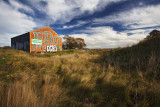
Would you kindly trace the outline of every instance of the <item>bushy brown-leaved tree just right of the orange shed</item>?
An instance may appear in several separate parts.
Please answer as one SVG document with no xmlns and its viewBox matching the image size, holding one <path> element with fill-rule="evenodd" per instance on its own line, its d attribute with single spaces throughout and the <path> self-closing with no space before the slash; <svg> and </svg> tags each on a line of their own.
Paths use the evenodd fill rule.
<svg viewBox="0 0 160 107">
<path fill-rule="evenodd" d="M 83 49 L 86 46 L 84 39 L 82 38 L 74 38 L 66 35 L 63 37 L 65 42 L 63 42 L 63 49 Z"/>
</svg>

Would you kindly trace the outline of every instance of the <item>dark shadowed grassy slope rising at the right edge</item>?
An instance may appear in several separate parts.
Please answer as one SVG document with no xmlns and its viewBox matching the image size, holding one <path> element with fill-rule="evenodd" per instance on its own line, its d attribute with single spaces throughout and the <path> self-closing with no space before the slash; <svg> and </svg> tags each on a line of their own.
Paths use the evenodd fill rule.
<svg viewBox="0 0 160 107">
<path fill-rule="evenodd" d="M 126 71 L 138 69 L 145 72 L 150 66 L 160 70 L 160 31 L 153 30 L 144 40 L 131 47 L 104 53 L 101 59 Z"/>
</svg>

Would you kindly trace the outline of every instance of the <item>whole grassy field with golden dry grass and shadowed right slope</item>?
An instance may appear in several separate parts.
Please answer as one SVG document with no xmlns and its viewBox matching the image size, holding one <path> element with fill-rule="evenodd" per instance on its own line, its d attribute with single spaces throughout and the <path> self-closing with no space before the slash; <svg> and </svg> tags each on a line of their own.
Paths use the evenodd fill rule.
<svg viewBox="0 0 160 107">
<path fill-rule="evenodd" d="M 159 107 L 160 33 L 111 50 L 0 49 L 2 107 Z"/>
</svg>

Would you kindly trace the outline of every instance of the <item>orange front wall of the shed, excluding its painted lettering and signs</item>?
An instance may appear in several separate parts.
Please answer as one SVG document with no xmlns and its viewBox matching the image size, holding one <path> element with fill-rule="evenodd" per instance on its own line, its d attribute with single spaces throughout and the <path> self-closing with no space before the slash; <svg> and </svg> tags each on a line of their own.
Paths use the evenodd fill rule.
<svg viewBox="0 0 160 107">
<path fill-rule="evenodd" d="M 49 41 L 47 43 L 44 43 L 44 41 L 45 41 L 45 34 L 44 34 L 44 32 L 46 32 L 46 31 L 47 32 L 51 32 L 52 35 L 53 35 L 53 38 L 54 38 L 54 36 L 58 36 L 58 34 L 54 30 L 52 30 L 49 26 L 41 28 L 41 29 L 37 29 L 37 30 L 34 30 L 34 31 L 31 31 L 30 32 L 30 52 L 45 52 L 46 51 L 45 49 L 46 49 L 47 45 L 56 45 L 58 47 L 57 51 L 62 51 L 62 38 L 60 38 L 60 37 L 56 38 L 56 42 L 58 42 L 58 39 L 60 39 L 59 44 L 54 43 L 53 39 L 51 39 L 52 43 L 50 43 Z M 36 49 L 33 48 L 33 46 L 35 46 L 35 45 L 33 45 L 31 43 L 31 39 L 35 39 L 34 38 L 34 36 L 35 36 L 34 32 L 43 32 L 43 34 L 39 34 L 38 35 L 38 36 L 42 36 L 42 37 L 40 37 L 40 38 L 42 38 L 42 45 L 41 46 L 37 45 Z M 48 38 L 50 38 L 50 36 L 51 35 L 48 34 Z"/>
</svg>

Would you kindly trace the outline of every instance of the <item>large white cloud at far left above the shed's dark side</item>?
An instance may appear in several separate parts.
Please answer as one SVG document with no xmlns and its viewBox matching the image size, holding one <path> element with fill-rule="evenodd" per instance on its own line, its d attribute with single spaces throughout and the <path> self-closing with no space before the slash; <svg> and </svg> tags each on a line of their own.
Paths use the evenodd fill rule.
<svg viewBox="0 0 160 107">
<path fill-rule="evenodd" d="M 11 5 L 0 1 L 0 45 L 10 45 L 10 38 L 16 35 L 33 30 L 36 27 L 31 17 L 18 11 L 15 5 L 21 4 L 12 2 Z"/>
</svg>

